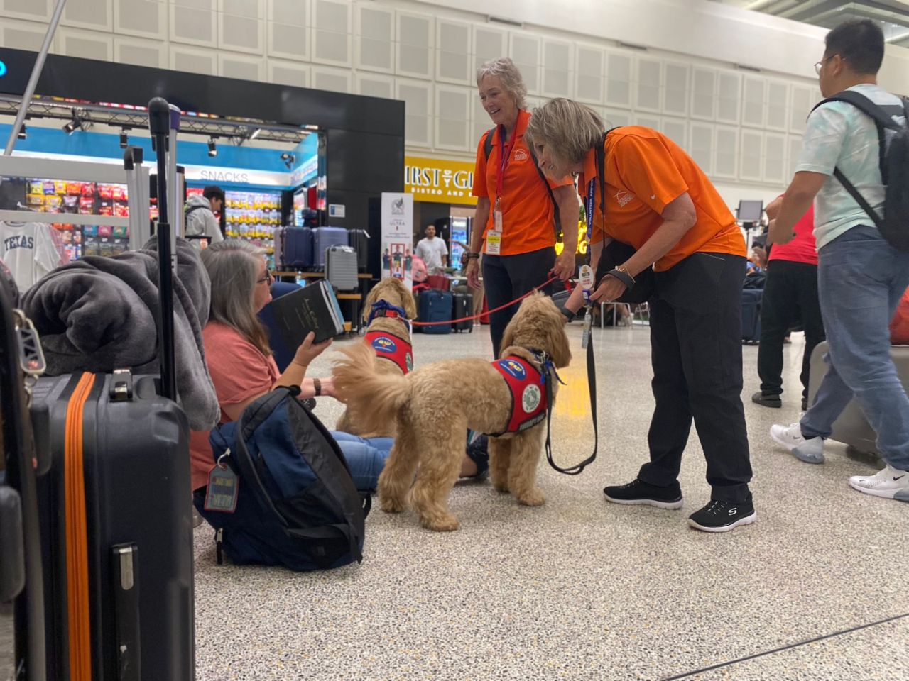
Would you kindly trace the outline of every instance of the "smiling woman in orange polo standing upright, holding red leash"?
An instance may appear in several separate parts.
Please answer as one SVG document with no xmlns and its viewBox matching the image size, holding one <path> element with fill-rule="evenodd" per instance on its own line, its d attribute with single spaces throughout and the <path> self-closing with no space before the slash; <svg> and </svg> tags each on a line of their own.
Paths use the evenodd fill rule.
<svg viewBox="0 0 909 681">
<path fill-rule="evenodd" d="M 487 62 L 476 72 L 480 100 L 494 128 L 476 149 L 474 229 L 465 273 L 480 288 L 477 259 L 483 252 L 483 281 L 489 309 L 513 301 L 549 279 L 574 273 L 577 250 L 577 195 L 571 178 L 548 180 L 537 170 L 524 142 L 530 120 L 527 88 L 511 59 Z M 555 257 L 554 205 L 558 204 L 564 250 Z M 493 354 L 517 305 L 490 314 Z"/>
</svg>

